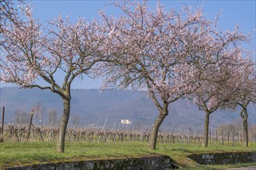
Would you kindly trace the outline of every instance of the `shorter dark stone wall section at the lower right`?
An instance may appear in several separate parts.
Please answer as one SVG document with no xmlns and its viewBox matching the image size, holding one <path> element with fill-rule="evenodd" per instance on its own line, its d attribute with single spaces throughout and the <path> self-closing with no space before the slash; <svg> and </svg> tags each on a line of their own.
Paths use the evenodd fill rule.
<svg viewBox="0 0 256 170">
<path fill-rule="evenodd" d="M 256 162 L 256 151 L 189 155 L 188 157 L 202 165 L 249 163 Z"/>
</svg>

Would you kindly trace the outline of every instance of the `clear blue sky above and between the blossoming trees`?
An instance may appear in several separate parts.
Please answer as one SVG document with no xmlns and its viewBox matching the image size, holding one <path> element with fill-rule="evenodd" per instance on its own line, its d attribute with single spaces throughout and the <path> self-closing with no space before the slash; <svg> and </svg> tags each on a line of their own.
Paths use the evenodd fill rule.
<svg viewBox="0 0 256 170">
<path fill-rule="evenodd" d="M 180 8 L 183 3 L 191 5 L 192 8 L 202 6 L 206 18 L 213 19 L 219 12 L 222 12 L 219 24 L 222 29 L 233 30 L 236 25 L 239 25 L 242 32 L 253 32 L 256 28 L 255 24 L 255 6 L 254 0 L 240 0 L 240 1 L 160 1 L 166 9 Z M 76 21 L 79 16 L 85 19 L 99 19 L 99 10 L 104 10 L 107 13 L 118 15 L 114 8 L 105 7 L 108 1 L 31 1 L 33 5 L 33 17 L 40 19 L 41 22 L 46 23 L 58 15 L 65 17 L 70 16 L 71 20 Z M 157 1 L 151 1 L 150 6 L 155 7 Z M 247 46 L 248 49 L 255 51 L 255 32 L 251 39 L 251 45 Z M 5 83 L 1 87 L 6 86 Z M 75 80 L 72 88 L 99 88 L 99 80 Z"/>
</svg>

